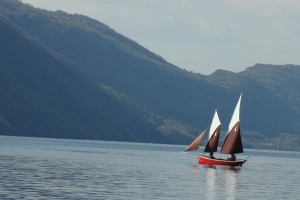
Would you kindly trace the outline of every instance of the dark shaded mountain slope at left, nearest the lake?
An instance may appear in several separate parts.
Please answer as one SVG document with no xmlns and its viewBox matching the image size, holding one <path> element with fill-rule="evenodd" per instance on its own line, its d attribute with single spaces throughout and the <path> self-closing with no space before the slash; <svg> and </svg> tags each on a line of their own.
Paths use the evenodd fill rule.
<svg viewBox="0 0 300 200">
<path fill-rule="evenodd" d="M 5 20 L 0 33 L 2 134 L 168 141 L 153 128 L 150 114 L 86 81 Z M 132 135 L 136 129 L 143 131 Z"/>
</svg>

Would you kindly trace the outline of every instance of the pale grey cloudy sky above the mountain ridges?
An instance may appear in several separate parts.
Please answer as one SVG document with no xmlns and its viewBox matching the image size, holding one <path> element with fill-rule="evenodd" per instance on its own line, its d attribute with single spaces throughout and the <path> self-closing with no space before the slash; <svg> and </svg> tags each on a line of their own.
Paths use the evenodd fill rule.
<svg viewBox="0 0 300 200">
<path fill-rule="evenodd" d="M 195 73 L 300 64 L 299 0 L 22 1 L 97 19 Z"/>
</svg>

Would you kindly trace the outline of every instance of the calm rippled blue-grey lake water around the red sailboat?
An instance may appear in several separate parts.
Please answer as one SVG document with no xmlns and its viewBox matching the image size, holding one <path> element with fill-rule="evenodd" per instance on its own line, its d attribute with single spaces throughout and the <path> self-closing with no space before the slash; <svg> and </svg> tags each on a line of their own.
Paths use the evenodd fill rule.
<svg viewBox="0 0 300 200">
<path fill-rule="evenodd" d="M 296 199 L 300 153 L 208 168 L 183 146 L 0 136 L 0 199 Z M 243 157 L 246 157 L 243 155 Z"/>
</svg>

